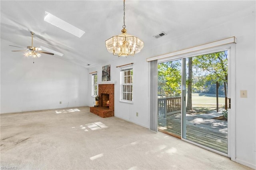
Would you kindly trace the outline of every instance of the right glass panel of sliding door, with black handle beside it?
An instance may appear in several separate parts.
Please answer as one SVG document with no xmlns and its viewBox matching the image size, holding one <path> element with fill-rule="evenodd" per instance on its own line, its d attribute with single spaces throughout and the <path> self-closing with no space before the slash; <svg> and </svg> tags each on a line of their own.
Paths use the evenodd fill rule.
<svg viewBox="0 0 256 170">
<path fill-rule="evenodd" d="M 183 138 L 227 153 L 228 51 L 183 59 Z"/>
</svg>

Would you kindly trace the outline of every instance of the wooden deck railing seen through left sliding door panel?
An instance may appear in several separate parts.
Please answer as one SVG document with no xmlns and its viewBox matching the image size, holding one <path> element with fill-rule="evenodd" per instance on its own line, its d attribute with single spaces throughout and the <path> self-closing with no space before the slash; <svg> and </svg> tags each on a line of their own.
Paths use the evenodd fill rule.
<svg viewBox="0 0 256 170">
<path fill-rule="evenodd" d="M 158 98 L 158 117 L 181 112 L 181 97 Z"/>
</svg>

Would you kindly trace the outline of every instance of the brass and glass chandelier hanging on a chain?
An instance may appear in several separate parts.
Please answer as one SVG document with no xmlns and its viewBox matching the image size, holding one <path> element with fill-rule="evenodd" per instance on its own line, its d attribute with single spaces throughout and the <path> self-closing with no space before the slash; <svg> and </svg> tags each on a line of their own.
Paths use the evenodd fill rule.
<svg viewBox="0 0 256 170">
<path fill-rule="evenodd" d="M 144 42 L 142 42 L 140 39 L 130 34 L 127 34 L 127 30 L 125 28 L 126 25 L 124 3 L 124 25 L 121 31 L 122 34 L 118 36 L 113 36 L 105 42 L 108 52 L 113 53 L 113 55 L 118 55 L 118 57 L 127 55 L 134 56 L 134 54 L 139 53 L 144 46 Z"/>
</svg>

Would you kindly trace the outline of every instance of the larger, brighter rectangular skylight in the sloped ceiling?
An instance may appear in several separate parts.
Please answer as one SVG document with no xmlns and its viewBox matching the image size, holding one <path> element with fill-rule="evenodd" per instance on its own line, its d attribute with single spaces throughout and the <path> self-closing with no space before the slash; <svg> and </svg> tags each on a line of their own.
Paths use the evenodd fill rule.
<svg viewBox="0 0 256 170">
<path fill-rule="evenodd" d="M 75 26 L 61 20 L 60 18 L 50 14 L 49 12 L 45 12 L 44 21 L 66 31 L 66 32 L 69 32 L 70 34 L 73 34 L 74 36 L 77 36 L 79 38 L 81 38 L 85 33 L 83 30 L 76 28 Z"/>
</svg>

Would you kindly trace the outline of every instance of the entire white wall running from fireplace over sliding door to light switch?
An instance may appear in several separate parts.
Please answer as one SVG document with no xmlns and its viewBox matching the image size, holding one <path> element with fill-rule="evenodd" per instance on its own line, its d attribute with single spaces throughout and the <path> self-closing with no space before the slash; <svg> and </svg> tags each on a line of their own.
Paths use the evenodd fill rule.
<svg viewBox="0 0 256 170">
<path fill-rule="evenodd" d="M 252 5 L 255 2 L 252 2 Z M 242 18 L 234 18 L 232 21 L 220 23 L 214 28 L 209 28 L 202 32 L 197 32 L 178 40 L 156 47 L 145 47 L 141 53 L 134 57 L 118 58 L 114 62 L 106 63 L 111 65 L 111 81 L 116 81 L 115 85 L 115 116 L 134 122 L 144 127 L 149 127 L 149 64 L 146 58 L 170 53 L 180 49 L 214 42 L 224 38 L 236 36 L 236 101 L 232 105 L 236 107 L 236 162 L 256 168 L 256 17 L 255 11 L 248 11 L 248 15 Z M 163 37 L 168 38 L 168 36 Z M 155 41 L 152 38 L 152 41 Z M 114 56 L 113 56 L 114 57 Z M 117 58 L 117 57 L 116 57 Z M 120 74 L 117 65 L 134 62 L 134 103 L 121 103 L 120 99 Z M 102 66 L 89 70 L 98 71 L 98 81 L 101 81 Z M 90 81 L 90 78 L 88 79 Z M 88 84 L 90 85 L 90 82 Z M 248 91 L 248 98 L 240 98 L 240 90 Z M 88 93 L 91 89 L 88 88 Z M 88 105 L 93 105 L 94 98 Z M 136 117 L 136 112 L 139 116 Z"/>
</svg>

